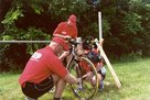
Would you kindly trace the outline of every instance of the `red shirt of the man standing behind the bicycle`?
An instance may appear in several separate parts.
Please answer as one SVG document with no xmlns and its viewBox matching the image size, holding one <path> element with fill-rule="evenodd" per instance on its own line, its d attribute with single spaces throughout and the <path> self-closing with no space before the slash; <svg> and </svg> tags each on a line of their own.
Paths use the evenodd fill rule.
<svg viewBox="0 0 150 100">
<path fill-rule="evenodd" d="M 53 34 L 69 35 L 72 37 L 77 37 L 77 27 L 76 25 L 67 25 L 67 22 L 62 22 L 57 25 Z"/>
</svg>

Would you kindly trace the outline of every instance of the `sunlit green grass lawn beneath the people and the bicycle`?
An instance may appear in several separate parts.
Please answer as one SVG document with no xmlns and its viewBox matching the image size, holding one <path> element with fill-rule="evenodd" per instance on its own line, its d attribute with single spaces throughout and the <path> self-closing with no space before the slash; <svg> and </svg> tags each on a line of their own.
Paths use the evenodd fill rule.
<svg viewBox="0 0 150 100">
<path fill-rule="evenodd" d="M 150 58 L 116 63 L 113 66 L 122 87 L 116 87 L 107 69 L 106 81 L 110 85 L 105 85 L 105 89 L 93 100 L 150 100 Z M 0 74 L 0 100 L 23 100 L 24 96 L 18 84 L 19 76 L 20 74 Z M 64 100 L 77 100 L 68 87 L 63 97 Z M 52 98 L 53 93 L 46 93 L 40 100 L 53 100 Z"/>
</svg>

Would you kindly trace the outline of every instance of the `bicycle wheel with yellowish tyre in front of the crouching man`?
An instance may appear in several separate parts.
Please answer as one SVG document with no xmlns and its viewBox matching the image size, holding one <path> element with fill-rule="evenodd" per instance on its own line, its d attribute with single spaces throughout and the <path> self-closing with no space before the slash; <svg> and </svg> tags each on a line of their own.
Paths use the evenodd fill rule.
<svg viewBox="0 0 150 100">
<path fill-rule="evenodd" d="M 96 80 L 95 86 L 93 86 L 90 81 L 87 81 L 86 78 L 83 78 L 86 75 L 86 70 L 84 69 L 84 67 L 81 63 L 87 64 L 88 68 L 90 68 L 93 76 L 95 76 L 95 80 Z M 89 100 L 90 98 L 93 98 L 98 90 L 97 70 L 96 70 L 95 66 L 93 65 L 93 63 L 86 57 L 79 57 L 77 60 L 73 60 L 71 63 L 68 70 L 71 74 L 73 74 L 77 78 L 82 78 L 82 84 L 71 85 L 71 88 L 72 88 L 74 95 L 78 99 L 84 98 L 85 100 Z"/>
</svg>

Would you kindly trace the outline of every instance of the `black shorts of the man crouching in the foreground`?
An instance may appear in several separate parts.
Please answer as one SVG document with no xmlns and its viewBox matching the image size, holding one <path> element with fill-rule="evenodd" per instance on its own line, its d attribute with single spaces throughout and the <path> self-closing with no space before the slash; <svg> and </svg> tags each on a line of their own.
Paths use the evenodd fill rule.
<svg viewBox="0 0 150 100">
<path fill-rule="evenodd" d="M 40 84 L 25 82 L 25 87 L 22 88 L 23 93 L 26 97 L 38 99 L 43 96 L 45 92 L 50 91 L 54 87 L 52 76 L 47 77 Z"/>
</svg>

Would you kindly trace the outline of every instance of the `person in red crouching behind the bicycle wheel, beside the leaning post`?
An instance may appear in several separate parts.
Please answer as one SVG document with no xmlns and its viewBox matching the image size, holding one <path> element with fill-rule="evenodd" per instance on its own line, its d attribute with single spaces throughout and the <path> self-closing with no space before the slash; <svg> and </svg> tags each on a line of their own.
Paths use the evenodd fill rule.
<svg viewBox="0 0 150 100">
<path fill-rule="evenodd" d="M 98 77 L 98 81 L 99 81 L 99 90 L 103 90 L 104 89 L 104 79 L 106 77 L 106 69 L 104 67 L 104 59 L 99 55 L 99 51 L 97 49 L 96 44 L 92 43 L 92 41 L 94 42 L 94 38 L 92 36 L 87 36 L 87 40 L 85 38 L 85 41 L 83 42 L 83 48 L 85 49 L 85 55 L 95 65 L 95 67 L 97 69 L 97 77 Z M 103 46 L 103 43 L 104 43 L 104 40 L 100 40 L 100 46 Z M 81 63 L 81 65 L 85 69 L 87 75 L 92 76 L 92 71 L 90 71 L 90 68 L 88 67 L 88 65 L 85 64 L 84 62 Z M 89 80 L 90 80 L 93 86 L 96 85 L 95 77 L 93 77 Z"/>
</svg>

